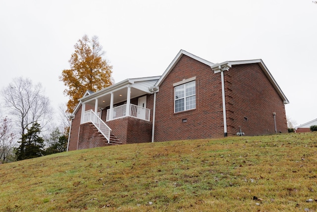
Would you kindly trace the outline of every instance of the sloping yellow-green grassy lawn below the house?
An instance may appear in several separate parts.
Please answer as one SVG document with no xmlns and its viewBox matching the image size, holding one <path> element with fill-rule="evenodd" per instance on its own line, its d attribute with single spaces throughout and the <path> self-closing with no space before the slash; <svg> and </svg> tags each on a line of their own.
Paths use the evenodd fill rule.
<svg viewBox="0 0 317 212">
<path fill-rule="evenodd" d="M 1 212 L 316 212 L 317 133 L 63 152 L 2 164 L 0 182 Z"/>
</svg>

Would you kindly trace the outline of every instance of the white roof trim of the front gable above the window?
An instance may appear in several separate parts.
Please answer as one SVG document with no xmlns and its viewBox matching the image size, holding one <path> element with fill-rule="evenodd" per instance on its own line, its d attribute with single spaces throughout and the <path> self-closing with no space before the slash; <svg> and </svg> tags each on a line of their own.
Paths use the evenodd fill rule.
<svg viewBox="0 0 317 212">
<path fill-rule="evenodd" d="M 167 67 L 167 69 L 164 71 L 164 73 L 161 75 L 161 77 L 159 78 L 159 80 L 157 81 L 157 83 L 155 84 L 155 86 L 159 86 L 163 81 L 164 79 L 166 78 L 166 76 L 169 74 L 170 71 L 172 71 L 172 69 L 175 67 L 175 65 L 177 64 L 177 62 L 182 58 L 183 55 L 186 55 L 190 58 L 193 58 L 194 60 L 197 60 L 203 64 L 206 64 L 207 66 L 213 66 L 214 64 L 207 61 L 207 60 L 204 60 L 200 57 L 197 57 L 196 55 L 193 55 L 189 52 L 186 52 L 185 50 L 180 50 L 178 52 L 178 54 L 176 55 L 176 57 L 174 58 L 174 60 L 169 64 L 169 66 Z"/>
</svg>

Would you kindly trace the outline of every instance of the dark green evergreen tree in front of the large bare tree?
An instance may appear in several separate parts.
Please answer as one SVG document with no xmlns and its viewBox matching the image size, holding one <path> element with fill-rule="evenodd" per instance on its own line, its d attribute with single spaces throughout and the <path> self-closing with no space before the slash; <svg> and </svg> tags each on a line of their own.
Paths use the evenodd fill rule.
<svg viewBox="0 0 317 212">
<path fill-rule="evenodd" d="M 20 146 L 16 148 L 16 159 L 24 160 L 43 155 L 44 139 L 40 137 L 40 124 L 33 123 L 27 133 L 22 135 L 21 141 L 18 141 Z"/>
</svg>

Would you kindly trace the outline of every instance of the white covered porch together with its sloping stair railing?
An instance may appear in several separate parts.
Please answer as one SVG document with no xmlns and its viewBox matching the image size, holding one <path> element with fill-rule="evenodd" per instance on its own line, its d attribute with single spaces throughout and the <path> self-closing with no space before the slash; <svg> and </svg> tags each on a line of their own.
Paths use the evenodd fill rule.
<svg viewBox="0 0 317 212">
<path fill-rule="evenodd" d="M 131 123 L 131 119 L 136 119 L 142 122 L 135 123 L 151 126 L 153 101 L 149 101 L 149 98 L 152 98 L 150 94 L 153 94 L 154 90 L 149 88 L 153 87 L 158 79 L 158 76 L 126 79 L 97 92 L 87 91 L 84 97 L 79 99 L 82 106 L 80 124 L 91 122 L 108 142 L 110 132 L 122 132 L 118 129 L 122 125 L 120 122 L 125 123 L 126 118 L 130 120 L 128 123 Z"/>
</svg>

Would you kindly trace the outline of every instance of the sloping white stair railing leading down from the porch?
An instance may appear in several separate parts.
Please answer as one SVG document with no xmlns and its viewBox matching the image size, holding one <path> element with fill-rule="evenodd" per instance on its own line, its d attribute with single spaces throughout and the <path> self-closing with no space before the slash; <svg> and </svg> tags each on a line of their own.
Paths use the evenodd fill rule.
<svg viewBox="0 0 317 212">
<path fill-rule="evenodd" d="M 99 116 L 93 111 L 88 110 L 85 111 L 84 119 L 82 120 L 82 124 L 91 122 L 98 129 L 98 131 L 106 138 L 106 140 L 110 141 L 110 131 L 111 129 L 106 125 L 106 123 L 99 118 Z"/>
</svg>

